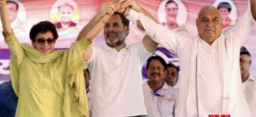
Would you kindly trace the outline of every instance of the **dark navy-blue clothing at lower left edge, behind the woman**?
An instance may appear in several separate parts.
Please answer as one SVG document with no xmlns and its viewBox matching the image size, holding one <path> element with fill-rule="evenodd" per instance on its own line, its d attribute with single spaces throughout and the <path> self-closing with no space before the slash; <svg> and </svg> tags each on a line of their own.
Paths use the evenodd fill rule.
<svg viewBox="0 0 256 117">
<path fill-rule="evenodd" d="M 18 97 L 11 87 L 11 81 L 0 84 L 0 116 L 14 117 L 17 104 Z"/>
</svg>

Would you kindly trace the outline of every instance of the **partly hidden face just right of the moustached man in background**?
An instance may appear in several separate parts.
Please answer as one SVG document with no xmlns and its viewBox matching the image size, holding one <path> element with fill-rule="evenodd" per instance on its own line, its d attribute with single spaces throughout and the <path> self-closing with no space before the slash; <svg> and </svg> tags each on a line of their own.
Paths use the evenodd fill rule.
<svg viewBox="0 0 256 117">
<path fill-rule="evenodd" d="M 167 72 L 166 72 L 166 77 L 164 78 L 164 81 L 166 84 L 168 84 L 171 87 L 174 87 L 177 82 L 178 82 L 178 68 L 169 63 L 167 65 Z"/>
</svg>

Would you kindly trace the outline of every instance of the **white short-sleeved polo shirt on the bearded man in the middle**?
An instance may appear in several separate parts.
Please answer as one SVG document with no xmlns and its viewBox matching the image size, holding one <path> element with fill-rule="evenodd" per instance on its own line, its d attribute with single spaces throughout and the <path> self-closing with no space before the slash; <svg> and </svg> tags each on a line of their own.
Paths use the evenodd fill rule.
<svg viewBox="0 0 256 117">
<path fill-rule="evenodd" d="M 109 46 L 92 46 L 87 61 L 92 80 L 93 116 L 146 115 L 142 66 L 151 55 L 143 42 L 125 45 L 119 52 Z"/>
</svg>

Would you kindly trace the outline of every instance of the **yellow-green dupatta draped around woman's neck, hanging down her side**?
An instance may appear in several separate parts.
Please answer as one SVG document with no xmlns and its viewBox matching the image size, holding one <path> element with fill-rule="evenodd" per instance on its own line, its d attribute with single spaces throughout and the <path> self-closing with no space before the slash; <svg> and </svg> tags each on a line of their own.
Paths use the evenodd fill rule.
<svg viewBox="0 0 256 117">
<path fill-rule="evenodd" d="M 55 90 L 63 98 L 63 113 L 66 117 L 73 116 L 75 111 L 79 116 L 89 116 L 87 106 L 87 95 L 85 94 L 85 79 L 83 77 L 83 69 L 87 68 L 85 60 L 82 57 L 84 52 L 90 47 L 85 39 L 75 42 L 71 45 L 69 50 L 58 50 L 43 55 L 38 50 L 32 48 L 28 44 L 22 44 L 21 48 L 25 55 L 35 63 L 48 63 L 50 78 L 52 79 Z M 18 69 L 10 61 L 11 77 L 18 77 Z M 60 74 L 65 74 L 65 77 L 60 77 Z M 65 78 L 64 84 L 60 79 Z M 18 95 L 18 82 L 13 81 L 12 84 L 16 94 Z"/>
</svg>

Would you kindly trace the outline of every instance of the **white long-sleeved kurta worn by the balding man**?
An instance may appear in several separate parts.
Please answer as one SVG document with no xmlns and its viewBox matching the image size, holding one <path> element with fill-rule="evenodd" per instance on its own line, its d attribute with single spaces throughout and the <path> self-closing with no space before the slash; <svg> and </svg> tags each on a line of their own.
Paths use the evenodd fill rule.
<svg viewBox="0 0 256 117">
<path fill-rule="evenodd" d="M 223 47 L 225 49 L 222 49 L 221 52 L 218 50 L 218 55 L 220 57 L 220 53 L 226 54 L 226 58 L 223 57 L 223 60 L 219 60 L 219 62 L 223 62 L 224 60 L 228 60 L 225 64 L 227 64 L 228 69 L 214 69 L 218 70 L 218 72 L 228 72 L 226 74 L 222 74 L 225 77 L 228 76 L 228 79 L 224 79 L 225 77 L 220 77 L 218 74 L 208 72 L 206 73 L 206 76 L 215 76 L 216 81 L 213 82 L 215 84 L 210 84 L 213 88 L 219 83 L 219 79 L 222 81 L 228 80 L 230 81 L 230 87 L 227 87 L 226 89 L 223 89 L 223 92 L 226 94 L 230 94 L 230 97 L 210 97 L 208 100 L 215 100 L 216 102 L 223 101 L 225 103 L 222 103 L 223 107 L 218 106 L 218 104 L 210 105 L 210 106 L 216 106 L 216 111 L 212 111 L 213 109 L 208 109 L 206 107 L 210 107 L 209 105 L 206 105 L 207 102 L 203 98 L 209 97 L 204 96 L 204 94 L 207 93 L 213 93 L 212 95 L 220 96 L 220 89 L 213 92 L 205 92 L 202 88 L 202 82 L 201 84 L 196 84 L 194 81 L 198 78 L 196 78 L 196 74 L 194 74 L 194 71 L 196 70 L 196 59 L 193 57 L 193 51 L 194 45 L 198 43 L 197 40 L 201 40 L 199 36 L 197 37 L 191 37 L 186 35 L 179 35 L 178 33 L 174 33 L 173 31 L 164 28 L 163 26 L 159 25 L 158 23 L 155 23 L 150 18 L 147 18 L 146 16 L 142 15 L 142 13 L 137 13 L 134 10 L 131 10 L 129 13 L 130 21 L 133 23 L 136 23 L 137 20 L 139 20 L 142 23 L 142 26 L 144 26 L 144 29 L 146 30 L 146 34 L 149 35 L 154 41 L 157 43 L 163 45 L 168 50 L 171 50 L 171 52 L 174 53 L 179 59 L 180 62 L 180 68 L 181 68 L 181 79 L 179 82 L 179 94 L 178 94 L 178 105 L 176 108 L 176 116 L 208 116 L 212 113 L 204 113 L 204 111 L 208 112 L 218 112 L 221 108 L 223 111 L 229 110 L 228 113 L 223 114 L 230 114 L 230 116 L 251 116 L 250 111 L 247 110 L 249 106 L 247 105 L 244 96 L 242 96 L 242 82 L 240 78 L 240 65 L 239 65 L 239 56 L 240 56 L 240 47 L 245 42 L 245 39 L 247 38 L 247 35 L 250 34 L 250 31 L 252 30 L 253 26 L 255 26 L 255 20 L 252 18 L 252 13 L 250 12 L 250 7 L 248 7 L 247 13 L 245 13 L 242 18 L 240 18 L 240 21 L 233 26 L 233 28 L 230 28 L 225 35 L 221 34 L 220 37 L 215 40 L 220 42 L 217 47 Z M 223 45 L 225 44 L 225 46 Z M 200 45 L 200 43 L 198 43 Z M 202 45 L 202 44 L 201 44 Z M 203 46 L 203 45 L 202 45 Z M 220 47 L 219 47 L 220 46 Z M 201 58 L 203 57 L 202 53 L 203 49 L 197 50 L 196 53 L 198 53 L 200 59 L 198 62 L 201 64 L 205 63 Z M 218 63 L 218 60 L 215 60 L 216 63 Z M 194 64 L 193 64 L 194 63 Z M 222 65 L 222 64 L 220 64 Z M 224 64 L 223 64 L 224 65 Z M 200 66 L 200 65 L 199 65 Z M 216 66 L 218 67 L 218 66 Z M 224 67 L 223 67 L 224 68 Z M 212 68 L 209 68 L 207 70 L 210 70 Z M 202 76 L 202 74 L 205 74 L 203 72 L 204 69 L 199 69 L 199 75 Z M 217 73 L 218 73 L 217 72 Z M 199 76 L 200 78 L 200 76 Z M 205 78 L 206 79 L 206 78 Z M 210 79 L 213 79 L 211 77 Z M 221 82 L 221 85 L 224 83 Z M 206 85 L 206 84 L 205 84 Z M 196 88 L 193 87 L 200 87 L 197 91 Z M 191 88 L 192 87 L 192 88 Z M 209 89 L 209 88 L 208 88 Z M 212 91 L 212 89 L 210 90 Z M 228 91 L 228 93 L 227 93 Z M 189 96 L 188 96 L 189 95 Z M 229 103 L 231 103 L 229 105 Z M 210 104 L 210 103 L 208 103 Z M 218 107 L 217 107 L 218 106 Z M 206 110 L 207 109 L 207 110 Z M 197 115 L 199 114 L 199 115 Z M 218 114 L 218 113 L 215 113 Z"/>
</svg>

